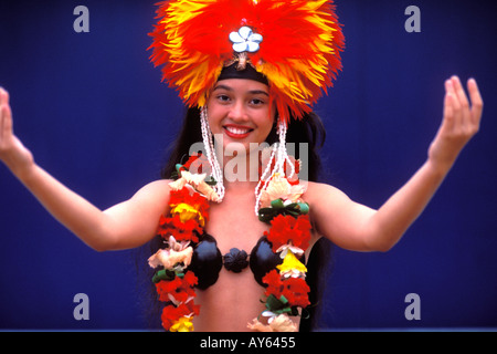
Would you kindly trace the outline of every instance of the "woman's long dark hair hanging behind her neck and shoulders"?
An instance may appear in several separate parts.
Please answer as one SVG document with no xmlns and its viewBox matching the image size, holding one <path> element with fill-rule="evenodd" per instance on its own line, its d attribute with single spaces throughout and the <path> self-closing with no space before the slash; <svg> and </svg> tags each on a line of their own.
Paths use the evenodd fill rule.
<svg viewBox="0 0 497 354">
<path fill-rule="evenodd" d="M 315 113 L 306 114 L 302 119 L 290 119 L 288 124 L 288 131 L 286 134 L 287 143 L 307 143 L 308 144 L 308 180 L 318 181 L 321 167 L 321 160 L 318 150 L 322 147 L 326 139 L 325 126 L 320 117 Z M 266 138 L 266 142 L 272 145 L 278 140 L 276 134 L 276 125 L 271 131 Z M 202 142 L 202 134 L 200 128 L 200 110 L 188 108 L 184 115 L 182 128 L 178 135 L 178 138 L 170 146 L 169 157 L 165 167 L 161 170 L 162 178 L 171 178 L 171 175 L 176 171 L 176 164 L 186 162 L 190 153 L 190 147 Z M 295 158 L 299 152 L 296 149 Z M 150 247 L 152 253 L 158 250 L 160 240 L 151 241 Z M 321 312 L 321 302 L 326 270 L 328 262 L 330 261 L 331 243 L 322 238 L 313 247 L 309 260 L 307 262 L 307 283 L 310 288 L 309 301 L 311 306 L 307 309 L 300 321 L 300 331 L 311 331 L 318 324 L 318 319 Z"/>
</svg>

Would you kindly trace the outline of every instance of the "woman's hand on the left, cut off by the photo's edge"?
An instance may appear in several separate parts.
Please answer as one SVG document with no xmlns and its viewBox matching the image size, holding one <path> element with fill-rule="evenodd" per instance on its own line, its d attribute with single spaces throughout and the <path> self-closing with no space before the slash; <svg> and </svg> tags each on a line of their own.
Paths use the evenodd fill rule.
<svg viewBox="0 0 497 354">
<path fill-rule="evenodd" d="M 33 155 L 13 134 L 9 93 L 0 87 L 0 160 L 18 177 L 33 165 Z"/>
</svg>

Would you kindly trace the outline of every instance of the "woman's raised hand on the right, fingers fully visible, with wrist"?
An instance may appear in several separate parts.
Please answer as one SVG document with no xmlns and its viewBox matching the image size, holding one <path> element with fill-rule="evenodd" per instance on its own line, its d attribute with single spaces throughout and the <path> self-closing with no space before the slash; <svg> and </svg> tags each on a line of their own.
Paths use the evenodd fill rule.
<svg viewBox="0 0 497 354">
<path fill-rule="evenodd" d="M 457 76 L 445 82 L 444 117 L 435 139 L 430 146 L 429 162 L 447 171 L 463 147 L 478 132 L 483 100 L 474 79 L 468 80 L 469 98 Z"/>
</svg>

